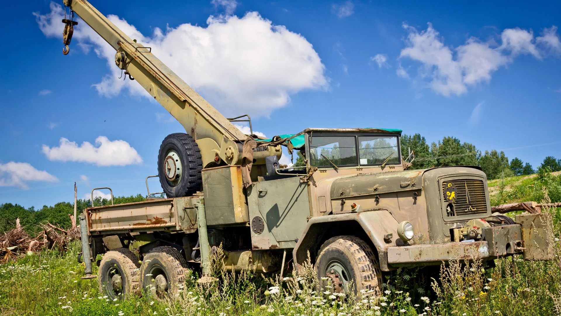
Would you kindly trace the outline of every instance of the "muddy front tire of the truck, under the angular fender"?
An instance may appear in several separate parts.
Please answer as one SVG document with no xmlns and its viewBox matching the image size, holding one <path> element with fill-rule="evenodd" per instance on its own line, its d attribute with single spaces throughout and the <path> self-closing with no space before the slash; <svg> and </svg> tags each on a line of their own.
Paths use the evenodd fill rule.
<svg viewBox="0 0 561 316">
<path fill-rule="evenodd" d="M 380 296 L 382 278 L 380 264 L 370 246 L 355 236 L 337 236 L 321 245 L 315 263 L 318 278 L 327 277 L 332 291 L 343 292 L 352 281 L 356 295 Z M 322 289 L 323 290 L 323 289 Z"/>
</svg>

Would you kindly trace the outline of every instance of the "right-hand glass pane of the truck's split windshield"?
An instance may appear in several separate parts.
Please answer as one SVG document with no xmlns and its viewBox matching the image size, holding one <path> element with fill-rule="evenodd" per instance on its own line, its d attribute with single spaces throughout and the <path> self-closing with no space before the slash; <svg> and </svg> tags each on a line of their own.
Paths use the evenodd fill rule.
<svg viewBox="0 0 561 316">
<path fill-rule="evenodd" d="M 358 136 L 358 156 L 361 165 L 399 164 L 396 136 Z"/>
</svg>

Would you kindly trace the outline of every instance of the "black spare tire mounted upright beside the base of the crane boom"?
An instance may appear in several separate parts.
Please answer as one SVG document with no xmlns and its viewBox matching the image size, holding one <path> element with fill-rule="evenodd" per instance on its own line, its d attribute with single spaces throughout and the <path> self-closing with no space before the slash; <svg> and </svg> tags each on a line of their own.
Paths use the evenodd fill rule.
<svg viewBox="0 0 561 316">
<path fill-rule="evenodd" d="M 158 152 L 158 175 L 167 197 L 190 196 L 201 188 L 203 159 L 195 140 L 185 133 L 169 134 Z"/>
</svg>

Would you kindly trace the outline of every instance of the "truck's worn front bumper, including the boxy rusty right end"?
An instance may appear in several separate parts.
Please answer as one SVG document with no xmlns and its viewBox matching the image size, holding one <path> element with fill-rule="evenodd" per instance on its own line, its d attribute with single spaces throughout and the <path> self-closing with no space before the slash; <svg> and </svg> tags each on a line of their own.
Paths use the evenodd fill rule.
<svg viewBox="0 0 561 316">
<path fill-rule="evenodd" d="M 525 260 L 554 259 L 550 214 L 520 214 L 516 223 L 483 228 L 481 241 L 388 247 L 388 264 L 399 267 L 449 260 L 485 261 L 515 254 L 522 254 Z"/>
</svg>

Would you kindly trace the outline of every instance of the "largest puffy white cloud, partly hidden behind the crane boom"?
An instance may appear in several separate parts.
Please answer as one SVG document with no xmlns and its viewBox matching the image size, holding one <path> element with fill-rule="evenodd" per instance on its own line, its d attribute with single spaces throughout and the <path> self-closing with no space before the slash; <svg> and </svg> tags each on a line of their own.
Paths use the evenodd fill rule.
<svg viewBox="0 0 561 316">
<path fill-rule="evenodd" d="M 36 21 L 44 35 L 60 38 L 64 12 L 54 2 L 50 10 L 44 15 L 34 13 Z M 268 116 L 286 105 L 291 94 L 329 85 L 312 44 L 257 12 L 243 17 L 210 16 L 206 28 L 191 24 L 155 28 L 151 37 L 118 16 L 107 17 L 131 38 L 152 47 L 154 55 L 227 116 Z M 136 82 L 118 79 L 121 70 L 114 64 L 114 49 L 85 22 L 75 27 L 73 40 L 93 46 L 98 57 L 107 61 L 110 73 L 94 85 L 100 94 L 112 97 L 127 89 L 151 99 Z"/>
</svg>

